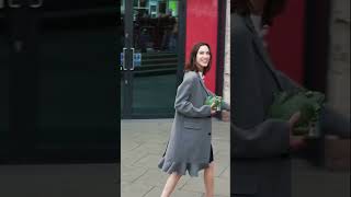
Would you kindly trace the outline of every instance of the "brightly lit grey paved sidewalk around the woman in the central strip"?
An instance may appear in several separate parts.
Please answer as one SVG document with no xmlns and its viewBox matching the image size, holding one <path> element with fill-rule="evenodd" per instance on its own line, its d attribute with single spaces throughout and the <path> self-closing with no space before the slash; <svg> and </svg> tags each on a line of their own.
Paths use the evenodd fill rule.
<svg viewBox="0 0 351 197">
<path fill-rule="evenodd" d="M 158 167 L 173 119 L 121 121 L 122 197 L 160 196 L 168 174 Z M 213 119 L 212 144 L 215 161 L 215 196 L 229 197 L 229 123 Z M 203 171 L 199 177 L 182 176 L 174 197 L 203 197 Z"/>
</svg>

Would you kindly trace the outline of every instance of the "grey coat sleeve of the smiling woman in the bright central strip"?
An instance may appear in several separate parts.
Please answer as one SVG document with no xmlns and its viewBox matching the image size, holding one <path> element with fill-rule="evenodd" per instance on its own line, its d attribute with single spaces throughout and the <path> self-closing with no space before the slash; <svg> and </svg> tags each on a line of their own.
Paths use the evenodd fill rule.
<svg viewBox="0 0 351 197">
<path fill-rule="evenodd" d="M 188 117 L 208 117 L 211 116 L 211 106 L 202 105 L 201 107 L 195 107 L 189 101 L 192 89 L 194 89 L 194 79 L 195 76 L 191 73 L 184 74 L 183 82 L 177 90 L 174 108 Z"/>
</svg>

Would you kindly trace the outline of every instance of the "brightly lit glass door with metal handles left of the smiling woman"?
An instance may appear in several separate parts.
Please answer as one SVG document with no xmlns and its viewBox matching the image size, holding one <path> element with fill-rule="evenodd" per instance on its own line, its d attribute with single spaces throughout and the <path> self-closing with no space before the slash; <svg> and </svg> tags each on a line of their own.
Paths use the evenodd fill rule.
<svg viewBox="0 0 351 197">
<path fill-rule="evenodd" d="M 123 118 L 172 117 L 179 68 L 179 1 L 122 1 Z"/>
</svg>

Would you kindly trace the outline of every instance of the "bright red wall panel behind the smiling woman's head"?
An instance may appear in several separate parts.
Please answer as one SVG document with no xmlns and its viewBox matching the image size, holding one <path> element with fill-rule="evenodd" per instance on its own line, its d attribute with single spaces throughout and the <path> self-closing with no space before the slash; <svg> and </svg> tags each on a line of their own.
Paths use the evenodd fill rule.
<svg viewBox="0 0 351 197">
<path fill-rule="evenodd" d="M 210 44 L 212 69 L 205 77 L 205 84 L 213 92 L 216 88 L 217 18 L 218 0 L 186 1 L 185 58 L 188 61 L 194 44 L 199 42 Z"/>
</svg>

